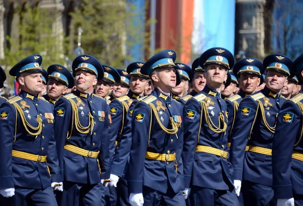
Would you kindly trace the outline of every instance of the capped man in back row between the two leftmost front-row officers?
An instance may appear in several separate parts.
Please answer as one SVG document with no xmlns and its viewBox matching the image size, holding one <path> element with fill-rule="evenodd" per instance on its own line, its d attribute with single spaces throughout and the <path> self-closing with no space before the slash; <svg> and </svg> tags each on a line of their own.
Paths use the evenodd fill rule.
<svg viewBox="0 0 303 206">
<path fill-rule="evenodd" d="M 60 64 L 53 64 L 47 68 L 48 81 L 46 84 L 46 94 L 44 99 L 53 106 L 68 89 L 74 86 L 74 77 L 66 67 Z"/>
</svg>

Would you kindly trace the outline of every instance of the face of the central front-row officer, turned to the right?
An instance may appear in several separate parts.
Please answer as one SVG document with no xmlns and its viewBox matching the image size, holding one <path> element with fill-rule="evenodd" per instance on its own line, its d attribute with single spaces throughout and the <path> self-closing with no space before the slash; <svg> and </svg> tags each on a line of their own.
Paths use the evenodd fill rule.
<svg viewBox="0 0 303 206">
<path fill-rule="evenodd" d="M 154 77 L 153 77 L 154 76 Z M 168 68 L 159 68 L 154 75 L 151 75 L 154 78 L 155 84 L 160 88 L 167 88 L 171 90 L 176 87 L 177 83 L 177 75 L 176 68 L 168 67 Z"/>
</svg>

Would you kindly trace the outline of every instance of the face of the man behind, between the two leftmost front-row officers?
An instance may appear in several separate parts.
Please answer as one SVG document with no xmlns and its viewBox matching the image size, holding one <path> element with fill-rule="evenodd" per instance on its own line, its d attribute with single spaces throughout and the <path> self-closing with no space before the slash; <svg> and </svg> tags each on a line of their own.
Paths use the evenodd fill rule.
<svg viewBox="0 0 303 206">
<path fill-rule="evenodd" d="M 64 95 L 66 93 L 66 91 L 67 87 L 65 84 L 54 79 L 48 79 L 46 86 L 46 93 L 48 97 L 58 100 L 61 95 Z"/>
</svg>

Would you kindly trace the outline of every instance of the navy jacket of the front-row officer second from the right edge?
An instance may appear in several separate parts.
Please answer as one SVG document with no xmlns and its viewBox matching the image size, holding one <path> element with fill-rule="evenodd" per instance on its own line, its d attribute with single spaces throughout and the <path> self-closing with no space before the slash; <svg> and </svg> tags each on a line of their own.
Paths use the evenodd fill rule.
<svg viewBox="0 0 303 206">
<path fill-rule="evenodd" d="M 242 99 L 231 135 L 230 162 L 235 180 L 272 186 L 272 156 L 245 153 L 245 147 L 272 149 L 277 115 L 285 100 L 267 87 Z"/>
</svg>

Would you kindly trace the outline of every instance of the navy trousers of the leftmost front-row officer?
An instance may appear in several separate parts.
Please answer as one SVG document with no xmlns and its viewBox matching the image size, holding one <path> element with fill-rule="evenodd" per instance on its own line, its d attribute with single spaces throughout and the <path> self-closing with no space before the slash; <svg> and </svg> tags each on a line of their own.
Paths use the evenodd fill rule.
<svg viewBox="0 0 303 206">
<path fill-rule="evenodd" d="M 0 195 L 2 206 L 57 206 L 52 187 L 31 189 L 15 186 L 15 195 L 3 197 Z"/>
</svg>

